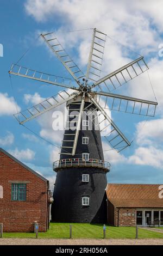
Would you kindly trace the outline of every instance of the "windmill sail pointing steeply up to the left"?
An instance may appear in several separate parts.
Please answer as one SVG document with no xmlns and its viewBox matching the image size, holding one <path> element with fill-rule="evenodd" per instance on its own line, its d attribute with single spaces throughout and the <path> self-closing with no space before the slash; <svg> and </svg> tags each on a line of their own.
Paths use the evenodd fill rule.
<svg viewBox="0 0 163 256">
<path fill-rule="evenodd" d="M 79 79 L 84 77 L 83 72 L 79 69 L 78 65 L 67 54 L 54 33 L 41 34 L 49 48 L 55 53 L 60 62 L 65 66 L 70 75 L 78 83 Z"/>
</svg>

